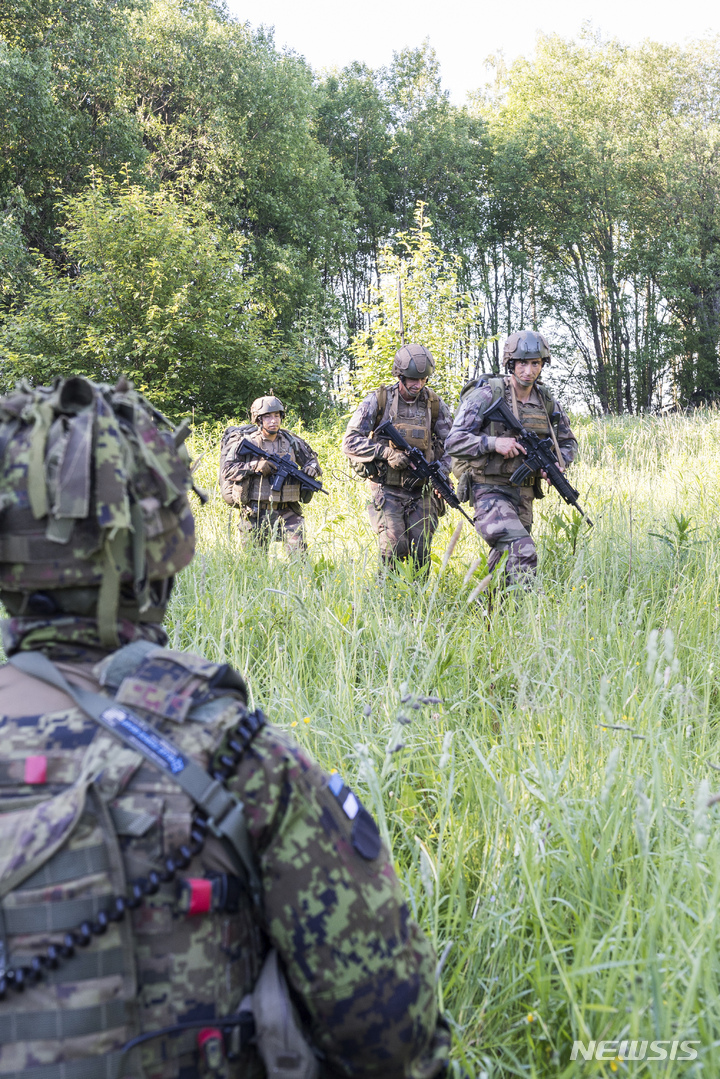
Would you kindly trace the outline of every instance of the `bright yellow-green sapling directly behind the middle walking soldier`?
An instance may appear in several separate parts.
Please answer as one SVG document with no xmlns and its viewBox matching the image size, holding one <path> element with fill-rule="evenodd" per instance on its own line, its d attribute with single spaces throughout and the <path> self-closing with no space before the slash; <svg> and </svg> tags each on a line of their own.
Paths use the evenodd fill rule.
<svg viewBox="0 0 720 1079">
<path fill-rule="evenodd" d="M 459 260 L 430 237 L 432 221 L 424 206 L 416 210 L 416 228 L 402 232 L 394 246 L 380 251 L 380 285 L 364 308 L 369 329 L 350 345 L 355 359 L 354 384 L 361 395 L 394 381 L 393 357 L 400 347 L 400 296 L 405 342 L 417 341 L 433 354 L 433 388 L 454 401 L 467 378 L 467 345 L 477 322 L 477 305 L 458 286 Z"/>
</svg>

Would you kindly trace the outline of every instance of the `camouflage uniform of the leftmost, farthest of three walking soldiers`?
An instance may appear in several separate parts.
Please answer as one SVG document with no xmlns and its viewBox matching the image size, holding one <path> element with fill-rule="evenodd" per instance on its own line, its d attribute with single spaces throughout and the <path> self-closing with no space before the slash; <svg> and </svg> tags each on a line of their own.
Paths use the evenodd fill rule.
<svg viewBox="0 0 720 1079">
<path fill-rule="evenodd" d="M 303 470 L 312 462 L 313 478 L 322 476 L 320 462 L 315 451 L 297 435 L 291 435 L 283 427 L 277 432 L 274 441 L 263 438 L 258 428 L 245 435 L 248 441 L 255 442 L 269 453 L 280 456 L 289 454 L 290 460 L 298 464 L 298 446 L 302 448 L 305 463 Z M 271 477 L 262 476 L 255 470 L 259 457 L 245 457 L 242 461 L 229 460 L 223 467 L 222 479 L 232 483 L 236 491 L 235 503 L 240 506 L 241 520 L 239 530 L 246 538 L 268 547 L 273 538 L 284 540 L 288 550 L 302 554 L 307 549 L 304 537 L 304 517 L 302 515 L 301 491 L 299 483 L 287 480 L 280 492 L 270 490 Z"/>
</svg>

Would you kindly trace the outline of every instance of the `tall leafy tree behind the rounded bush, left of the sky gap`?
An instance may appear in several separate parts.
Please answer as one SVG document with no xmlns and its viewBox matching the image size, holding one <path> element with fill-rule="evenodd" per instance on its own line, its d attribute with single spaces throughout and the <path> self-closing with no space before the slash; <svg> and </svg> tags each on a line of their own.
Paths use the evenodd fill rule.
<svg viewBox="0 0 720 1079">
<path fill-rule="evenodd" d="M 324 302 L 323 269 L 354 243 L 355 200 L 314 133 L 312 71 L 205 0 L 154 0 L 133 42 L 127 107 L 153 181 L 248 241 L 244 262 L 291 334 Z"/>
</svg>

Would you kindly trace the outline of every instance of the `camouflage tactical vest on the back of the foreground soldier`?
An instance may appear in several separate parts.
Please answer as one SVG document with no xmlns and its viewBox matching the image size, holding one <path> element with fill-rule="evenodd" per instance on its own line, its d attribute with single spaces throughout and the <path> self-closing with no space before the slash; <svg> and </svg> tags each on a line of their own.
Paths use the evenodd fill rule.
<svg viewBox="0 0 720 1079">
<path fill-rule="evenodd" d="M 213 692 L 222 681 L 218 665 L 142 644 L 142 658 L 131 645 L 95 675 L 116 689 L 116 700 L 164 721 L 182 753 L 207 769 L 244 707 Z M 60 667 L 95 681 L 89 668 Z M 36 680 L 18 672 L 5 702 L 9 692 L 28 704 L 28 718 L 5 715 L 1 725 L 1 966 L 31 971 L 49 945 L 62 954 L 68 932 L 97 925 L 128 882 L 162 872 L 172 851 L 191 849 L 195 806 L 78 708 L 32 715 Z M 0 1003 L 3 1079 L 173 1079 L 188 1067 L 223 1079 L 263 1075 L 255 1051 L 237 1065 L 220 1060 L 217 1071 L 206 1058 L 217 1051 L 213 1021 L 239 1008 L 266 950 L 248 892 L 214 843 L 135 913 L 107 924 L 92 943 L 89 935 L 86 948 L 76 938 L 74 954 L 37 985 L 9 992 Z M 119 1052 L 140 1032 L 204 1017 L 205 1030 Z"/>
</svg>

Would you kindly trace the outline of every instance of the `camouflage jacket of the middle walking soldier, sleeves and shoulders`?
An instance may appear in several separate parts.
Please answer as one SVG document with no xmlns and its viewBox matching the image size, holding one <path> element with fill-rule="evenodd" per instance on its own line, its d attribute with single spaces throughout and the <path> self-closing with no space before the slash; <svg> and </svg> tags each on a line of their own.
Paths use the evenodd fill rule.
<svg viewBox="0 0 720 1079">
<path fill-rule="evenodd" d="M 358 405 L 351 416 L 342 439 L 342 452 L 351 462 L 368 464 L 382 457 L 382 450 L 389 445 L 388 441 L 376 440 L 371 437 L 372 432 L 384 420 L 396 420 L 396 410 L 408 415 L 417 414 L 419 418 L 429 409 L 427 388 L 423 388 L 416 401 L 409 404 L 403 400 L 398 391 L 399 383 L 388 387 L 385 408 L 381 416 L 378 415 L 378 396 L 376 391 L 368 394 Z M 432 454 L 431 460 L 439 461 L 446 470 L 450 469 L 450 456 L 446 450 L 446 439 L 452 426 L 452 413 L 444 400 L 439 400 L 437 420 L 432 427 Z"/>
</svg>

